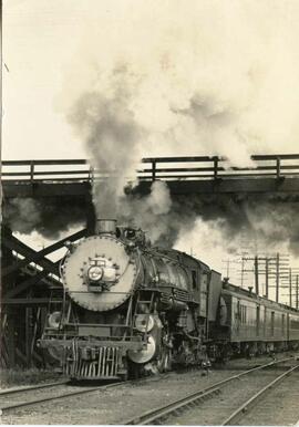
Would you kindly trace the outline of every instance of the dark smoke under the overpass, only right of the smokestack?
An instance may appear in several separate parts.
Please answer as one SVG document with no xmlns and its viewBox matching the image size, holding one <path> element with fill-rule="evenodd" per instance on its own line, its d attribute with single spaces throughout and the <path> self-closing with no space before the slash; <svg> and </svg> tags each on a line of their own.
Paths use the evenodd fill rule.
<svg viewBox="0 0 299 427">
<path fill-rule="evenodd" d="M 198 232 L 197 222 L 203 221 L 210 230 L 210 239 L 226 253 L 237 253 L 241 244 L 252 251 L 279 250 L 287 243 L 293 256 L 299 256 L 299 196 L 276 197 L 189 195 L 174 196 L 171 200 L 166 184 L 156 183 L 161 192 L 161 206 L 165 209 L 155 215 L 148 196 L 128 196 L 124 206 L 134 212 L 131 222 L 147 230 L 155 244 L 174 247 L 184 233 Z M 159 199 L 157 199 L 159 200 Z M 124 210 L 124 218 L 128 218 Z M 200 230 L 199 230 L 200 231 Z M 202 236 L 198 235 L 198 246 Z"/>
</svg>

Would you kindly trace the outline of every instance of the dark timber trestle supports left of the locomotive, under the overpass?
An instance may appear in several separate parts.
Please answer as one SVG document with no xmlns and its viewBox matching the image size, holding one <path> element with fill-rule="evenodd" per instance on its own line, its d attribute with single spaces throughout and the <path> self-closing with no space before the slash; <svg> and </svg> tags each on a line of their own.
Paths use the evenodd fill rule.
<svg viewBox="0 0 299 427">
<path fill-rule="evenodd" d="M 43 363 L 35 347 L 45 320 L 47 305 L 61 302 L 62 284 L 59 263 L 45 258 L 62 248 L 66 240 L 76 241 L 86 236 L 86 229 L 35 251 L 17 239 L 2 226 L 1 250 L 1 325 L 0 363 L 2 367 L 31 366 Z M 53 275 L 54 274 L 54 275 Z"/>
</svg>

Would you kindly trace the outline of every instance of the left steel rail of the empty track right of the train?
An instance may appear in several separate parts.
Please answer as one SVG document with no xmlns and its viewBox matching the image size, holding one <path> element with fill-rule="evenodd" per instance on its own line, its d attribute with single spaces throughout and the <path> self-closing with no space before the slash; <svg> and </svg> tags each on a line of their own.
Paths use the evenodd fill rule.
<svg viewBox="0 0 299 427">
<path fill-rule="evenodd" d="M 241 372 L 240 374 L 235 374 L 230 376 L 229 378 L 223 379 L 220 382 L 214 383 L 208 387 L 205 387 L 203 389 L 199 389 L 195 393 L 192 393 L 187 396 L 184 396 L 183 398 L 176 399 L 169 404 L 159 406 L 154 409 L 150 409 L 141 415 L 137 415 L 133 418 L 130 418 L 128 420 L 124 421 L 123 425 L 148 425 L 158 423 L 159 420 L 164 420 L 165 417 L 169 416 L 171 414 L 178 413 L 185 408 L 187 408 L 192 404 L 196 404 L 205 398 L 210 398 L 215 394 L 220 393 L 220 387 L 230 383 L 234 379 L 238 379 L 244 375 L 251 374 L 252 372 L 265 369 L 266 367 L 270 367 L 274 365 L 277 365 L 279 363 L 288 362 L 293 360 L 293 356 L 281 358 L 279 361 L 272 361 L 270 363 L 267 363 L 265 365 L 256 366 L 251 369 L 247 369 Z M 298 365 L 299 366 L 299 365 Z"/>
</svg>

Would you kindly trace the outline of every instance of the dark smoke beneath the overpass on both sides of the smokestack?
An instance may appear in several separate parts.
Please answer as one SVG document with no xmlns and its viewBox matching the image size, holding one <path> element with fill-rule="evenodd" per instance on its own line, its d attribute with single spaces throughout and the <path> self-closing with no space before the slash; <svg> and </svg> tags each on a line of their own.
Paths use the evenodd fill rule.
<svg viewBox="0 0 299 427">
<path fill-rule="evenodd" d="M 198 219 L 210 230 L 208 238 L 226 253 L 237 253 L 243 241 L 274 251 L 287 243 L 299 256 L 299 196 L 262 197 L 189 195 L 169 197 L 165 183 L 156 181 L 147 196 L 128 194 L 120 199 L 118 222 L 143 228 L 154 244 L 172 248 L 184 235 L 198 233 Z M 13 231 L 38 231 L 59 239 L 71 226 L 84 227 L 86 207 L 75 200 L 31 198 L 7 200 L 3 222 Z M 199 230 L 200 231 L 200 230 Z M 205 247 L 198 233 L 198 246 Z M 202 250 L 203 250 L 202 249 Z"/>
</svg>

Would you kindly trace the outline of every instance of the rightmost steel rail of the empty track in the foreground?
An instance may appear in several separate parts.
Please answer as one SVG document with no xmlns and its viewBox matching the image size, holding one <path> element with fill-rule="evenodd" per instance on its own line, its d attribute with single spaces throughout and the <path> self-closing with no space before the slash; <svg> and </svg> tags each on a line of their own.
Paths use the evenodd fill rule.
<svg viewBox="0 0 299 427">
<path fill-rule="evenodd" d="M 283 372 L 283 374 L 279 375 L 277 378 L 271 381 L 269 384 L 267 384 L 265 387 L 262 387 L 259 392 L 257 392 L 254 396 L 251 396 L 248 400 L 246 400 L 243 405 L 240 405 L 228 418 L 225 419 L 225 421 L 221 424 L 221 426 L 231 426 L 233 423 L 237 423 L 240 420 L 241 417 L 244 417 L 248 410 L 255 405 L 256 400 L 265 395 L 267 392 L 269 392 L 275 385 L 283 381 L 287 376 L 289 376 L 293 371 L 296 371 L 299 367 L 299 364 L 296 366 L 290 367 L 287 372 Z"/>
</svg>

